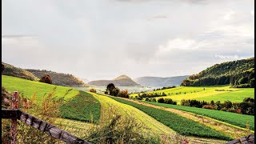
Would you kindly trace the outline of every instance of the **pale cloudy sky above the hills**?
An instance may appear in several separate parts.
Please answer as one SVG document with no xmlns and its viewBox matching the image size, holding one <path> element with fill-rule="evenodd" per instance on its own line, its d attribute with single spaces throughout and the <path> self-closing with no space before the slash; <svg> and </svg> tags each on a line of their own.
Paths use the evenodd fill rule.
<svg viewBox="0 0 256 144">
<path fill-rule="evenodd" d="M 90 81 L 254 57 L 254 0 L 2 0 L 2 62 Z"/>
</svg>

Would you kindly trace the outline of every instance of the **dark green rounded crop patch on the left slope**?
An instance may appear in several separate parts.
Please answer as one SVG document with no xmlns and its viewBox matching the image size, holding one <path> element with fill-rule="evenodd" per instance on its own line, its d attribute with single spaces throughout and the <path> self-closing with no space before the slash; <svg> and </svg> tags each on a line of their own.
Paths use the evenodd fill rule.
<svg viewBox="0 0 256 144">
<path fill-rule="evenodd" d="M 62 118 L 74 119 L 83 122 L 99 122 L 101 104 L 93 95 L 84 91 L 61 106 Z"/>
</svg>

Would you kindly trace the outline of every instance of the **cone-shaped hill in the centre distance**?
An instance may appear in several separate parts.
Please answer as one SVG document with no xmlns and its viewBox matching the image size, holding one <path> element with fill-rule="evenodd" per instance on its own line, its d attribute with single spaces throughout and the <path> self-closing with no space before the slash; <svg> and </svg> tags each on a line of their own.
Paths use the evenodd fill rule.
<svg viewBox="0 0 256 144">
<path fill-rule="evenodd" d="M 126 75 L 121 75 L 118 78 L 114 78 L 113 80 L 98 80 L 88 82 L 89 85 L 94 86 L 107 86 L 110 83 L 114 83 L 114 86 L 140 86 Z"/>
</svg>

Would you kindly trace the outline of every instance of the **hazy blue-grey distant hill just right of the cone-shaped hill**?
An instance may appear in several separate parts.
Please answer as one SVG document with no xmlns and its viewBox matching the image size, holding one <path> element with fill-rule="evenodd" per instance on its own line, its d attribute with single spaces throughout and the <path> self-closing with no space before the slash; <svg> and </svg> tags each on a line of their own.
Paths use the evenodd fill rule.
<svg viewBox="0 0 256 144">
<path fill-rule="evenodd" d="M 135 78 L 134 82 L 142 86 L 150 87 L 164 87 L 164 86 L 179 86 L 183 79 L 188 78 L 189 75 L 177 76 L 177 77 L 139 77 Z"/>
</svg>

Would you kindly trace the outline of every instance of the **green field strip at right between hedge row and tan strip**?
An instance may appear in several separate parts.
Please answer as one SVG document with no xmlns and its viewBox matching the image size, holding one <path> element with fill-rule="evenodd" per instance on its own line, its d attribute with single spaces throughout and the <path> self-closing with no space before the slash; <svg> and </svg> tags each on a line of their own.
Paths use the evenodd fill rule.
<svg viewBox="0 0 256 144">
<path fill-rule="evenodd" d="M 146 102 L 146 101 L 144 101 Z M 249 122 L 250 129 L 254 130 L 254 116 L 253 115 L 246 115 L 246 114 L 236 114 L 221 110 L 208 110 L 202 109 L 197 107 L 190 107 L 190 106 L 178 106 L 178 105 L 170 105 L 166 103 L 158 103 L 158 102 L 146 102 L 150 103 L 155 106 L 162 106 L 168 107 L 177 110 L 184 110 L 194 114 L 200 114 L 209 118 L 214 118 L 220 120 L 222 122 L 230 123 L 234 126 L 240 126 L 242 128 L 246 128 L 246 122 Z"/>
</svg>

